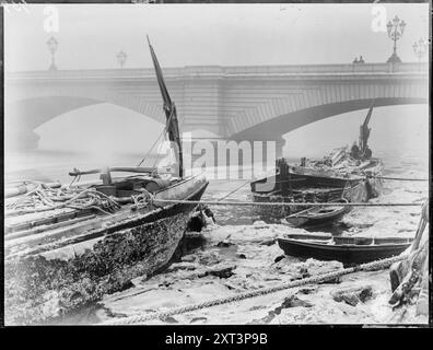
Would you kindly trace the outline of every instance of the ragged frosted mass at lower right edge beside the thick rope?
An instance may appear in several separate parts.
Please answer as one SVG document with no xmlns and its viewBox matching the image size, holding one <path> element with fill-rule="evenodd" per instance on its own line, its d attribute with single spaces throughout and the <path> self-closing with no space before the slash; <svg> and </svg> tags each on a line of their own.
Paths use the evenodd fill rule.
<svg viewBox="0 0 433 350">
<path fill-rule="evenodd" d="M 407 259 L 390 267 L 394 308 L 417 305 L 416 316 L 429 315 L 429 202 L 422 207 L 421 220 Z"/>
</svg>

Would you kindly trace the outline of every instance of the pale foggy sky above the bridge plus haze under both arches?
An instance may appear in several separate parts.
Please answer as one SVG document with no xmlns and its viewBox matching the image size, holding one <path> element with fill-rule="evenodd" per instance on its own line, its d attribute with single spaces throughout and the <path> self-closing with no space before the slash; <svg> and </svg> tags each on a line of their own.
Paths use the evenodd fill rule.
<svg viewBox="0 0 433 350">
<path fill-rule="evenodd" d="M 397 14 L 407 22 L 398 55 L 402 61 L 416 61 L 412 44 L 429 36 L 429 5 L 383 5 L 387 21 Z M 384 62 L 391 54 L 387 34 L 372 31 L 373 4 L 67 4 L 56 7 L 58 33 L 44 31 L 45 7 L 4 12 L 7 71 L 46 70 L 50 36 L 59 42 L 56 63 L 62 70 L 118 68 L 120 50 L 128 55 L 125 68 L 150 68 L 145 34 L 163 69 L 351 63 L 360 55 L 366 62 Z M 428 113 L 421 105 L 376 108 L 373 149 L 428 152 Z M 285 135 L 284 151 L 291 156 L 323 154 L 324 149 L 349 144 L 356 140 L 365 114 L 358 110 L 300 128 Z M 129 109 L 100 104 L 61 115 L 36 132 L 45 150 L 145 153 L 162 128 Z"/>
</svg>

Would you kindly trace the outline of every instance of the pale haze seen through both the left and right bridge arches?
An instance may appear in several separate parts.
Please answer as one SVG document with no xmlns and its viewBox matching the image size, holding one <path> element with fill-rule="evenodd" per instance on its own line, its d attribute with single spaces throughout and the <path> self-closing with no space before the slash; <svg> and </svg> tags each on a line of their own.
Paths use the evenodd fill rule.
<svg viewBox="0 0 433 350">
<path fill-rule="evenodd" d="M 104 104 L 83 108 L 82 113 L 65 114 L 36 129 L 42 136 L 39 148 L 95 155 L 107 152 L 144 152 L 157 138 L 163 126 L 131 113 L 128 122 L 119 129 L 118 118 L 126 110 Z M 346 113 L 288 132 L 284 135 L 284 155 L 320 156 L 326 150 L 351 144 L 358 140 L 359 127 L 364 121 L 366 113 L 366 109 Z M 93 124 L 96 125 L 95 128 L 87 127 Z M 75 130 L 75 125 L 81 125 L 81 128 Z M 428 156 L 428 105 L 377 107 L 373 110 L 370 127 L 372 132 L 368 142 L 373 150 L 410 151 Z"/>
</svg>

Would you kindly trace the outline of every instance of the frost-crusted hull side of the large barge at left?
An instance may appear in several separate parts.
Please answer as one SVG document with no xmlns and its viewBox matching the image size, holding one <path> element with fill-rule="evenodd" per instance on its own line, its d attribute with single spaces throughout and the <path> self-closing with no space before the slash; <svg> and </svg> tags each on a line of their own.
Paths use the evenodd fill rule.
<svg viewBox="0 0 433 350">
<path fill-rule="evenodd" d="M 207 186 L 206 180 L 196 184 L 183 199 L 199 200 Z M 130 287 L 133 278 L 154 275 L 169 262 L 196 207 L 168 205 L 112 230 L 75 236 L 60 247 L 7 259 L 5 323 L 55 320 Z"/>
</svg>

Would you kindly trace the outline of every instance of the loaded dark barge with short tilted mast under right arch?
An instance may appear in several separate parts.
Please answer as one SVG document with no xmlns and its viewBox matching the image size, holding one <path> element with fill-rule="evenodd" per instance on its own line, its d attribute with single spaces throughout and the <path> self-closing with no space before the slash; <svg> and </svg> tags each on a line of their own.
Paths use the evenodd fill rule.
<svg viewBox="0 0 433 350">
<path fill-rule="evenodd" d="M 383 163 L 372 156 L 367 147 L 373 107 L 361 126 L 360 141 L 333 150 L 319 161 L 301 159 L 299 165 L 277 160 L 276 173 L 251 183 L 255 202 L 290 202 L 293 206 L 257 206 L 256 213 L 265 221 L 279 221 L 308 207 L 296 203 L 364 202 L 382 190 Z"/>
</svg>

